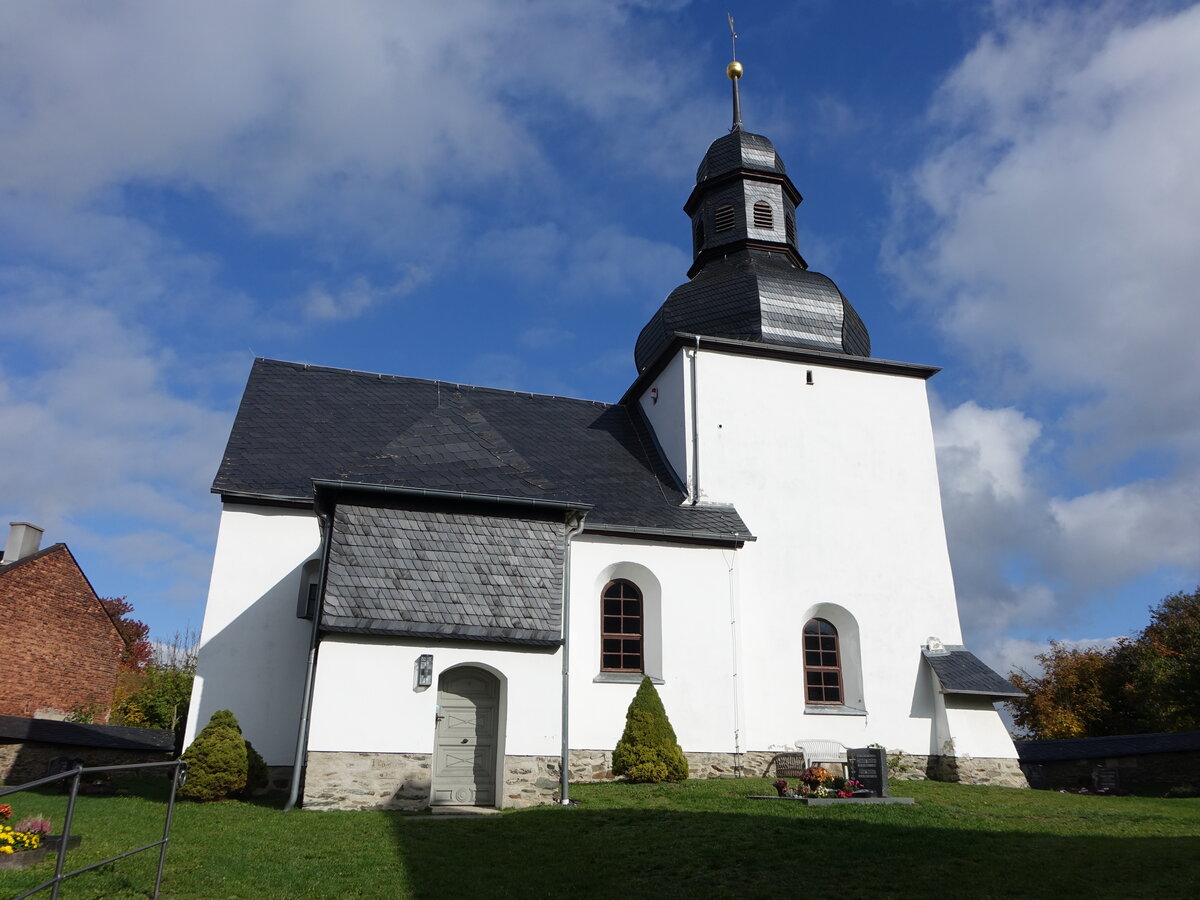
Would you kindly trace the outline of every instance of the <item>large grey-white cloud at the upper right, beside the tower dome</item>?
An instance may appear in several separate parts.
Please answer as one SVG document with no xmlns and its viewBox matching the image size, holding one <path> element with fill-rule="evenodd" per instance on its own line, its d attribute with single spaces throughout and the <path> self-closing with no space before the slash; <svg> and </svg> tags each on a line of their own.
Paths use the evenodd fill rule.
<svg viewBox="0 0 1200 900">
<path fill-rule="evenodd" d="M 1069 397 L 1084 458 L 1200 449 L 1198 43 L 1200 7 L 1006 16 L 934 106 L 908 184 L 928 242 L 893 235 L 955 342 Z"/>
</svg>

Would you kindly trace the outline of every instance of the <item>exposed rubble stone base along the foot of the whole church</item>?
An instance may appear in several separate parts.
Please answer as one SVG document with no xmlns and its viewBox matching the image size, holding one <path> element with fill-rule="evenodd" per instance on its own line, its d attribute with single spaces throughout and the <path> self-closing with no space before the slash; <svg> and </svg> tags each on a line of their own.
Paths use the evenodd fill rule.
<svg viewBox="0 0 1200 900">
<path fill-rule="evenodd" d="M 733 754 L 690 752 L 688 774 L 695 779 L 763 778 L 774 775 L 775 751 Z M 505 756 L 497 806 L 521 809 L 558 799 L 557 756 Z M 308 809 L 406 809 L 430 805 L 430 754 L 308 754 L 304 805 Z M 1028 787 L 1016 760 L 914 756 L 888 752 L 888 775 L 896 781 L 932 779 L 968 785 Z M 570 779 L 612 781 L 611 750 L 571 750 Z"/>
</svg>

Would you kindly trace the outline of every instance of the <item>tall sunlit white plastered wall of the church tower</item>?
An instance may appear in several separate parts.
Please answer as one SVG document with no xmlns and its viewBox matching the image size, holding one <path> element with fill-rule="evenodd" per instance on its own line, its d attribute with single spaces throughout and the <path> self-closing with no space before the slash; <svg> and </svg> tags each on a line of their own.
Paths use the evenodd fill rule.
<svg viewBox="0 0 1200 900">
<path fill-rule="evenodd" d="M 643 409 L 655 385 L 658 406 L 679 394 L 690 404 L 686 379 L 660 384 L 679 380 L 684 356 Z M 758 539 L 737 554 L 743 749 L 832 738 L 941 752 L 920 646 L 961 634 L 924 380 L 701 350 L 696 390 L 701 496 L 734 503 Z M 857 623 L 866 715 L 804 712 L 800 630 L 832 618 L 829 605 Z M 960 754 L 1015 757 L 994 710 L 949 719 Z"/>
</svg>

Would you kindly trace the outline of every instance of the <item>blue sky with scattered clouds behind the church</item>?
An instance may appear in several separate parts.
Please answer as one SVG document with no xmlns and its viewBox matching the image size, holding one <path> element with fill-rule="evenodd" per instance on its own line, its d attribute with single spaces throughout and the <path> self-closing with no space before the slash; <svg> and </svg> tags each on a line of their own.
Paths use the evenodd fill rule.
<svg viewBox="0 0 1200 900">
<path fill-rule="evenodd" d="M 0 512 L 157 637 L 203 617 L 254 356 L 616 400 L 730 121 L 931 383 L 968 642 L 1200 581 L 1200 8 L 0 7 Z"/>
</svg>

